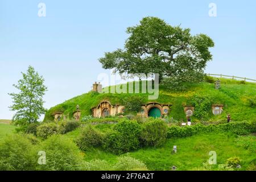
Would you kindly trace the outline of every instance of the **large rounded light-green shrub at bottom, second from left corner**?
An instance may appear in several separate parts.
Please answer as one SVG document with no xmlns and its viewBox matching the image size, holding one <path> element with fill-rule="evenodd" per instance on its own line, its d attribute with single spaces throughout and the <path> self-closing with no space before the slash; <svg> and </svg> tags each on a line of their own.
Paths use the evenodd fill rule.
<svg viewBox="0 0 256 182">
<path fill-rule="evenodd" d="M 44 140 L 41 151 L 46 152 L 46 164 L 38 165 L 44 171 L 72 171 L 81 168 L 82 155 L 72 140 L 63 135 L 53 135 Z"/>
</svg>

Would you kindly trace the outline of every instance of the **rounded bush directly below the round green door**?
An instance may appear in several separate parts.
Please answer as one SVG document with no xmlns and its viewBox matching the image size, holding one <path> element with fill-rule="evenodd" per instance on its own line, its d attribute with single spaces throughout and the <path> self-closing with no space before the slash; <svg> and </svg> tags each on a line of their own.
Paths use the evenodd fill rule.
<svg viewBox="0 0 256 182">
<path fill-rule="evenodd" d="M 143 123 L 141 140 L 144 146 L 161 146 L 166 142 L 167 125 L 161 119 L 150 118 Z"/>
</svg>

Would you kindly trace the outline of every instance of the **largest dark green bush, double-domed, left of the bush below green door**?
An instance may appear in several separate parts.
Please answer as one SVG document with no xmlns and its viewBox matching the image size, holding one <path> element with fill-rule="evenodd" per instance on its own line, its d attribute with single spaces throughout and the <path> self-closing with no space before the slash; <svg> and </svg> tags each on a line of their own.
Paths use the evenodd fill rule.
<svg viewBox="0 0 256 182">
<path fill-rule="evenodd" d="M 136 121 L 123 119 L 114 127 L 114 132 L 106 135 L 104 140 L 104 149 L 121 154 L 139 148 L 139 135 L 141 134 L 141 125 Z"/>
</svg>

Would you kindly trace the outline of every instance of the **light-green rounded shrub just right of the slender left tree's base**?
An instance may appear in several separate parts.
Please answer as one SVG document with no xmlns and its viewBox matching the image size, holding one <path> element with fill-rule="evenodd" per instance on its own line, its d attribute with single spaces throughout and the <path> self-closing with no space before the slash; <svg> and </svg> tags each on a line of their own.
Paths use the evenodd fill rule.
<svg viewBox="0 0 256 182">
<path fill-rule="evenodd" d="M 38 137 L 46 139 L 47 137 L 58 133 L 58 126 L 55 122 L 44 123 L 38 126 L 36 130 L 36 135 L 38 135 Z"/>
</svg>

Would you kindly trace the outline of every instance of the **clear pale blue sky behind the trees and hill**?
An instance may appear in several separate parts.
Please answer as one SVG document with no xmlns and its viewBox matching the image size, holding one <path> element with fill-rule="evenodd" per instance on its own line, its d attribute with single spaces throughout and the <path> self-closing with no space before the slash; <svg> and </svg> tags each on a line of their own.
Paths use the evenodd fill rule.
<svg viewBox="0 0 256 182">
<path fill-rule="evenodd" d="M 46 4 L 46 17 L 38 4 Z M 208 15 L 216 3 L 217 16 Z M 207 73 L 256 78 L 256 1 L 13 1 L 0 0 L 0 118 L 9 111 L 13 84 L 28 65 L 48 86 L 47 108 L 88 92 L 100 73 L 98 58 L 122 48 L 126 28 L 144 16 L 191 28 L 214 40 Z"/>
</svg>

